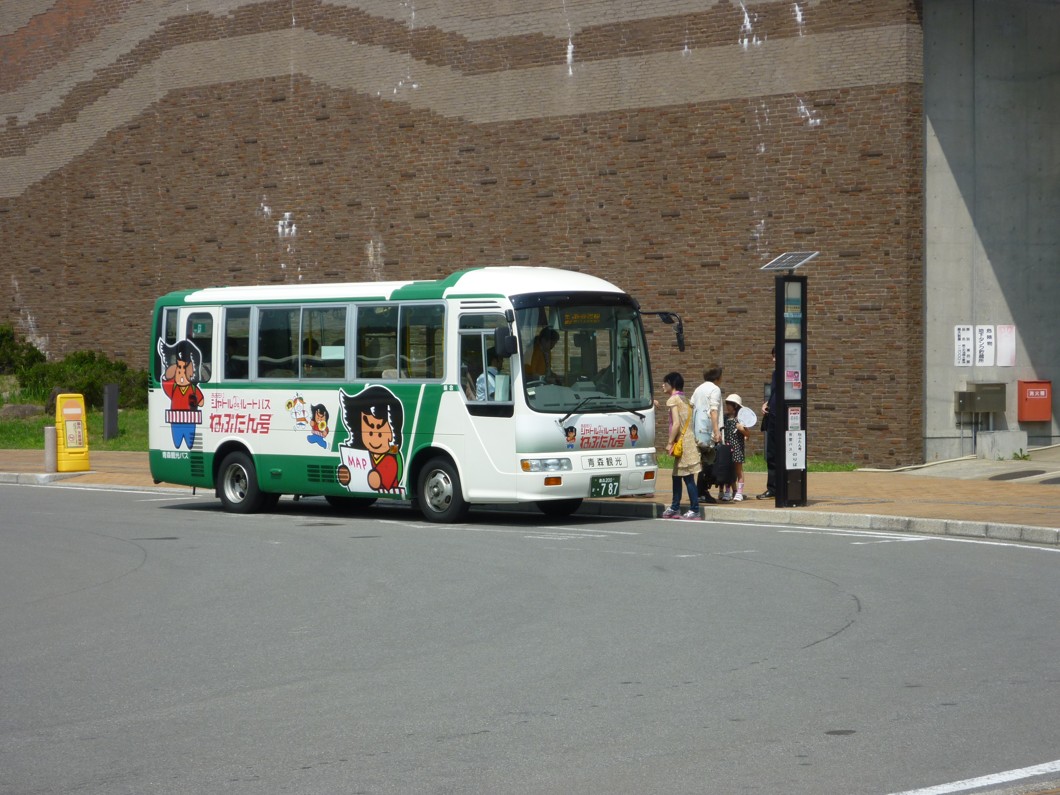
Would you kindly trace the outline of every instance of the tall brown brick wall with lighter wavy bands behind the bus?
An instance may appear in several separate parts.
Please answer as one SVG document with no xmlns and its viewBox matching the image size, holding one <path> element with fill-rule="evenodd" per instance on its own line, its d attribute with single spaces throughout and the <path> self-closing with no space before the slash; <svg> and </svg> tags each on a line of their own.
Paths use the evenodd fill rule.
<svg viewBox="0 0 1060 795">
<path fill-rule="evenodd" d="M 685 353 L 649 323 L 656 379 L 718 360 L 755 406 L 759 268 L 819 250 L 812 455 L 922 460 L 914 4 L 375 5 L 70 2 L 4 31 L 0 322 L 142 367 L 170 289 L 553 265 L 683 316 Z"/>
</svg>

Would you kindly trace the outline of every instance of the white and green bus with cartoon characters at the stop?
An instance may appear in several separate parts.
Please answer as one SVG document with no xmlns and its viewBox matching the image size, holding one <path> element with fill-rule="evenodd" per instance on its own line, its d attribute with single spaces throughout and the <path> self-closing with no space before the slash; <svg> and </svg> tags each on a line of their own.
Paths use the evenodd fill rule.
<svg viewBox="0 0 1060 795">
<path fill-rule="evenodd" d="M 642 314 L 603 279 L 528 266 L 170 293 L 153 321 L 152 476 L 236 513 L 313 495 L 407 500 L 439 523 L 652 494 Z"/>
</svg>

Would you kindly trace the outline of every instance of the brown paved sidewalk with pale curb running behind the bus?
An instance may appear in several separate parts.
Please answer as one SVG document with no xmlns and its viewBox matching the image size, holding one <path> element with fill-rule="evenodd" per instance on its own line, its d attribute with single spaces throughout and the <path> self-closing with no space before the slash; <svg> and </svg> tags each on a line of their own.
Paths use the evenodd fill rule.
<svg viewBox="0 0 1060 795">
<path fill-rule="evenodd" d="M 0 483 L 187 491 L 156 484 L 146 453 L 92 452 L 89 464 L 83 473 L 46 473 L 43 450 L 0 450 Z M 765 490 L 765 473 L 748 473 L 749 498 L 704 505 L 704 518 L 1060 546 L 1060 445 L 1032 449 L 1027 461 L 965 458 L 903 471 L 811 472 L 807 487 L 806 506 L 775 508 L 772 499 L 755 499 Z M 660 471 L 653 497 L 586 500 L 581 513 L 658 516 L 670 491 L 670 472 Z"/>
</svg>

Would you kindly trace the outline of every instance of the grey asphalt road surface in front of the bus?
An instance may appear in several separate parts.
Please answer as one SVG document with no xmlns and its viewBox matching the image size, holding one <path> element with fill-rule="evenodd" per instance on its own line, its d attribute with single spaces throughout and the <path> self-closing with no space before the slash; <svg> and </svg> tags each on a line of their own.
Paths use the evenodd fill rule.
<svg viewBox="0 0 1060 795">
<path fill-rule="evenodd" d="M 1057 778 L 1055 548 L 368 516 L 0 485 L 0 793 Z"/>
</svg>

